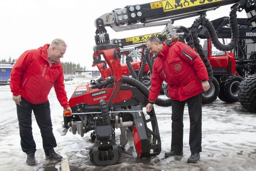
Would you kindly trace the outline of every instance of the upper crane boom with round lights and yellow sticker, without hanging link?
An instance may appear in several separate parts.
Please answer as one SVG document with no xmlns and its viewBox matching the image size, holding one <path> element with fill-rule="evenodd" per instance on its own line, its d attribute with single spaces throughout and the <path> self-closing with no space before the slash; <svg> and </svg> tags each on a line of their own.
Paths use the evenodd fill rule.
<svg viewBox="0 0 256 171">
<path fill-rule="evenodd" d="M 200 15 L 201 11 L 214 10 L 219 6 L 236 2 L 239 0 L 165 0 L 126 6 L 100 16 L 95 20 L 95 26 L 97 20 L 102 19 L 104 26 L 109 26 L 115 31 L 121 31 L 117 27 L 124 24 L 149 23 L 178 17 L 188 18 L 191 15 Z"/>
</svg>

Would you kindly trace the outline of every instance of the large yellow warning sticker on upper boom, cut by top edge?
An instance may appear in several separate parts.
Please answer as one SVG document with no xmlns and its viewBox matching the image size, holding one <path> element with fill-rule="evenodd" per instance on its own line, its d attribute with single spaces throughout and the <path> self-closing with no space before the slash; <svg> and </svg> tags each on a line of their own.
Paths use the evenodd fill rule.
<svg viewBox="0 0 256 171">
<path fill-rule="evenodd" d="M 173 11 L 193 6 L 200 6 L 224 0 L 164 0 L 162 1 L 163 11 Z M 151 4 L 150 4 L 151 6 Z M 151 8 L 152 9 L 152 8 Z"/>
</svg>

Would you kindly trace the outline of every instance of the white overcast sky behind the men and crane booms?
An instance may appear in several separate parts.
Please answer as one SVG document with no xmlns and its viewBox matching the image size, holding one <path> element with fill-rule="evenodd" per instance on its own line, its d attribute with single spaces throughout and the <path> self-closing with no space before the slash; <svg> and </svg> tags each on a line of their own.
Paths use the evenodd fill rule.
<svg viewBox="0 0 256 171">
<path fill-rule="evenodd" d="M 95 45 L 94 20 L 113 9 L 144 4 L 148 0 L 1 0 L 0 59 L 18 58 L 24 51 L 35 49 L 61 38 L 68 44 L 64 59 L 91 66 Z M 230 5 L 231 6 L 231 5 Z M 207 12 L 210 20 L 228 16 L 230 6 Z M 246 17 L 245 11 L 238 17 Z M 174 22 L 190 27 L 194 18 Z M 121 39 L 161 32 L 164 26 L 115 32 L 107 27 L 110 39 Z"/>
</svg>

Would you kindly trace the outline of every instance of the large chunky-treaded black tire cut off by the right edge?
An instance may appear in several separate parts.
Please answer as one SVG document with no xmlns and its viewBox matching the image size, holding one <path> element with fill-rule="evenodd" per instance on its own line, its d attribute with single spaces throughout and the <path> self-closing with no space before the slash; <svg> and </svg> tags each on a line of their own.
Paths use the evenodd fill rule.
<svg viewBox="0 0 256 171">
<path fill-rule="evenodd" d="M 246 77 L 241 82 L 238 98 L 242 107 L 256 112 L 256 74 Z"/>
</svg>

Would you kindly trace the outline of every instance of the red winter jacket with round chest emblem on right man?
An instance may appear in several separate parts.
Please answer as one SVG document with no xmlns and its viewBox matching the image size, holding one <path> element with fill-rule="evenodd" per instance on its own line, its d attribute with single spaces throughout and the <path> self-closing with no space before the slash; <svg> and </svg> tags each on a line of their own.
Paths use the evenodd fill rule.
<svg viewBox="0 0 256 171">
<path fill-rule="evenodd" d="M 201 80 L 209 78 L 198 53 L 183 42 L 172 42 L 170 47 L 163 45 L 154 62 L 148 101 L 155 103 L 163 81 L 169 85 L 172 100 L 184 101 L 202 93 Z"/>
</svg>

